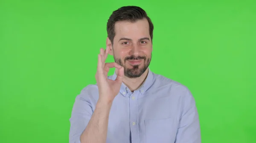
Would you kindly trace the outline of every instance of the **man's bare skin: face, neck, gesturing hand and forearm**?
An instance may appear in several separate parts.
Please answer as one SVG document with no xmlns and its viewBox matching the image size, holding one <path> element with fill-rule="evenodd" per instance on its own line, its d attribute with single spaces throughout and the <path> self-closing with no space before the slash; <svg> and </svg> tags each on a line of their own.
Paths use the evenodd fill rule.
<svg viewBox="0 0 256 143">
<path fill-rule="evenodd" d="M 119 93 L 122 82 L 134 91 L 143 84 L 148 74 L 152 52 L 148 21 L 144 19 L 133 23 L 116 22 L 115 32 L 113 43 L 107 38 L 107 48 L 101 48 L 98 55 L 95 78 L 99 88 L 99 100 L 80 136 L 81 143 L 106 143 L 111 105 Z M 115 62 L 105 63 L 108 54 L 114 56 Z M 117 74 L 115 81 L 108 79 L 107 76 L 109 68 L 113 67 L 116 68 Z"/>
</svg>

